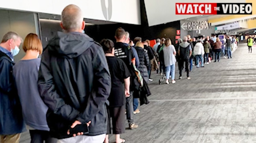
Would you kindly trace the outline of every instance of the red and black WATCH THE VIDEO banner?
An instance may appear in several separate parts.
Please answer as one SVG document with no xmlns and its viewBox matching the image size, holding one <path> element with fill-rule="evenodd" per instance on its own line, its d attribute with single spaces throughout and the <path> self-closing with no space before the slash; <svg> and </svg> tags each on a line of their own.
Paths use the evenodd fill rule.
<svg viewBox="0 0 256 143">
<path fill-rule="evenodd" d="M 252 14 L 252 3 L 176 3 L 176 14 Z"/>
</svg>

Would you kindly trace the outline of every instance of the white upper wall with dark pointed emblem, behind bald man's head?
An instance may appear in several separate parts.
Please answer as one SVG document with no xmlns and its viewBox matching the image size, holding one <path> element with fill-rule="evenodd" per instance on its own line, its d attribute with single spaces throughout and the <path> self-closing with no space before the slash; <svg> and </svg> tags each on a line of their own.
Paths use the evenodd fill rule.
<svg viewBox="0 0 256 143">
<path fill-rule="evenodd" d="M 140 24 L 139 0 L 6 0 L 0 8 L 32 11 L 60 15 L 65 6 L 78 5 L 84 18 L 106 20 L 101 2 L 112 2 L 112 17 L 109 21 L 127 24 Z"/>
</svg>

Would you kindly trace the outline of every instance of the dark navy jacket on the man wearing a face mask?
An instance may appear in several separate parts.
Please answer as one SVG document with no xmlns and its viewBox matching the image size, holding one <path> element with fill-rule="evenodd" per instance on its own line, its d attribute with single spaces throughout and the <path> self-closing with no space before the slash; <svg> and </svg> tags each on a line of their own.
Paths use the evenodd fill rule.
<svg viewBox="0 0 256 143">
<path fill-rule="evenodd" d="M 0 134 L 9 135 L 26 131 L 21 104 L 13 79 L 13 65 L 0 51 Z"/>
</svg>

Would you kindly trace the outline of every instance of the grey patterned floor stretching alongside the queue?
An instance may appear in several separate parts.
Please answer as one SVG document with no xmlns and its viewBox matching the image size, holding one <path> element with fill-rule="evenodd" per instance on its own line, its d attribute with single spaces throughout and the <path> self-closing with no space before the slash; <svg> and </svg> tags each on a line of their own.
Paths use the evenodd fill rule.
<svg viewBox="0 0 256 143">
<path fill-rule="evenodd" d="M 139 128 L 121 137 L 127 143 L 256 143 L 253 52 L 241 44 L 232 59 L 194 68 L 191 80 L 176 74 L 174 85 L 158 85 L 161 76 L 153 74 L 150 103 L 135 115 Z M 29 143 L 28 133 L 21 143 Z"/>
</svg>

